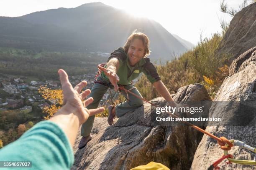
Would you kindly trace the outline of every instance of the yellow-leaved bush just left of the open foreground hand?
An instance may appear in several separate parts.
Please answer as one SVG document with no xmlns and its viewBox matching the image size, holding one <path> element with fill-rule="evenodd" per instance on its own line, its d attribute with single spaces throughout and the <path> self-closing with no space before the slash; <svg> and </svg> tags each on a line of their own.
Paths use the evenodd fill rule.
<svg viewBox="0 0 256 170">
<path fill-rule="evenodd" d="M 40 87 L 38 92 L 44 97 L 45 100 L 50 100 L 53 102 L 49 107 L 44 107 L 42 112 L 46 113 L 47 116 L 44 117 L 45 120 L 49 120 L 57 110 L 60 109 L 60 106 L 63 104 L 63 93 L 62 90 L 51 90 L 47 87 Z"/>
</svg>

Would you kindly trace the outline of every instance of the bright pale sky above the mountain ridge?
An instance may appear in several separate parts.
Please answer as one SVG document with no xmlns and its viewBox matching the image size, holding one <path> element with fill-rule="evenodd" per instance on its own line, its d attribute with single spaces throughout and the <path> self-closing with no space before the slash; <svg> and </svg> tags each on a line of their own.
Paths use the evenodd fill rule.
<svg viewBox="0 0 256 170">
<path fill-rule="evenodd" d="M 0 0 L 0 16 L 17 17 L 59 7 L 72 8 L 99 0 Z M 221 0 L 100 0 L 125 10 L 134 16 L 148 17 L 160 23 L 172 34 L 194 45 L 213 33 L 221 32 L 220 19 L 232 17 L 220 12 Z M 239 9 L 243 0 L 225 0 L 228 6 Z"/>
</svg>

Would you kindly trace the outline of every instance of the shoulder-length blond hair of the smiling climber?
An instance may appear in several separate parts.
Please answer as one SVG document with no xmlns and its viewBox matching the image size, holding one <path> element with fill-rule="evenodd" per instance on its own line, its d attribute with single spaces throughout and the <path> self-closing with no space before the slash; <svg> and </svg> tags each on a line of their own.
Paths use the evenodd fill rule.
<svg viewBox="0 0 256 170">
<path fill-rule="evenodd" d="M 133 32 L 127 39 L 127 42 L 125 43 L 125 45 L 123 46 L 123 49 L 125 51 L 125 53 L 128 53 L 128 49 L 131 45 L 131 43 L 133 42 L 134 39 L 139 39 L 142 40 L 143 45 L 145 47 L 145 54 L 144 57 L 147 57 L 150 54 L 150 50 L 149 50 L 149 39 L 146 36 L 146 34 L 142 33 L 142 32 Z"/>
</svg>

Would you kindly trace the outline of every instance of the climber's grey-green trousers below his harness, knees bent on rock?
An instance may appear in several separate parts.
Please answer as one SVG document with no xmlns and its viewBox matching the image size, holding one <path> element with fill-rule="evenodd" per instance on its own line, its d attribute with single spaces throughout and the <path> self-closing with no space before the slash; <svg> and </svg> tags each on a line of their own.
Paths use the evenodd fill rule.
<svg viewBox="0 0 256 170">
<path fill-rule="evenodd" d="M 104 82 L 100 77 L 98 78 L 98 80 Z M 125 85 L 124 87 L 125 87 L 125 89 L 129 90 L 134 86 L 133 85 Z M 97 108 L 100 103 L 100 100 L 102 99 L 103 95 L 105 94 L 105 92 L 107 90 L 108 90 L 108 86 L 105 86 L 105 85 L 102 85 L 99 83 L 95 83 L 91 89 L 91 94 L 89 96 L 89 97 L 93 97 L 94 100 L 90 105 L 87 106 L 87 109 Z M 137 90 L 136 87 L 133 88 L 131 90 L 131 92 L 135 93 L 138 96 L 141 96 L 140 92 Z M 125 113 L 127 113 L 131 110 L 134 110 L 138 107 L 141 107 L 143 105 L 143 100 L 138 99 L 137 97 L 131 95 L 130 93 L 128 93 L 129 100 L 127 100 L 127 94 L 125 92 L 122 93 L 122 95 L 125 96 L 126 101 L 115 106 L 116 117 L 121 117 L 121 116 L 125 115 Z M 86 122 L 84 122 L 84 124 L 82 124 L 81 136 L 89 136 L 90 135 L 90 133 L 92 132 L 94 118 L 95 118 L 95 115 L 90 116 L 88 118 L 88 120 Z"/>
</svg>

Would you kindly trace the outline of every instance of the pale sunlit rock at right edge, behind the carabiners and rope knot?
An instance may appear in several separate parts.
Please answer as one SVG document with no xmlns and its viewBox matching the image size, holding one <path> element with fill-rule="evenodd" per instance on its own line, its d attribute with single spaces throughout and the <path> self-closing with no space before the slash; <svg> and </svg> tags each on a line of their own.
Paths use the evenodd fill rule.
<svg viewBox="0 0 256 170">
<path fill-rule="evenodd" d="M 230 75 L 225 78 L 223 85 L 218 90 L 215 101 L 240 101 L 246 105 L 246 112 L 242 112 L 243 105 L 230 107 L 228 102 L 223 102 L 222 107 L 213 104 L 210 108 L 210 116 L 221 117 L 233 122 L 233 126 L 207 126 L 206 131 L 218 137 L 241 140 L 247 145 L 256 147 L 256 47 L 240 55 L 230 66 Z M 243 102 L 241 102 L 243 101 Z M 232 113 L 232 114 L 228 114 Z M 235 126 L 243 122 L 243 126 Z M 243 150 L 238 146 L 232 147 L 229 152 L 235 159 L 253 160 L 254 155 L 248 150 Z M 191 170 L 205 170 L 218 158 L 223 155 L 217 142 L 207 135 L 204 135 L 194 156 Z M 225 170 L 252 170 L 255 167 L 232 163 L 219 164 Z"/>
</svg>

